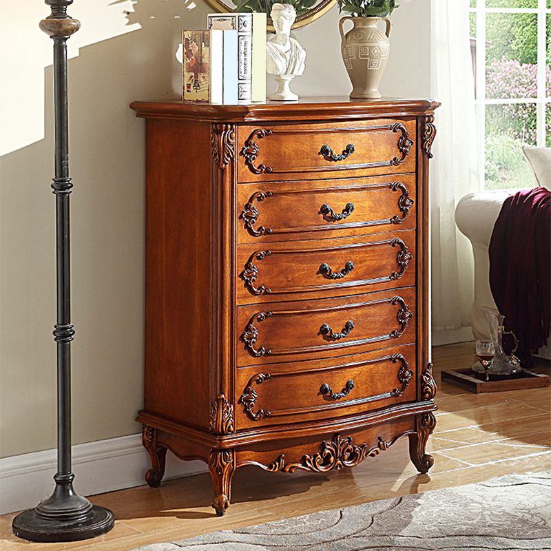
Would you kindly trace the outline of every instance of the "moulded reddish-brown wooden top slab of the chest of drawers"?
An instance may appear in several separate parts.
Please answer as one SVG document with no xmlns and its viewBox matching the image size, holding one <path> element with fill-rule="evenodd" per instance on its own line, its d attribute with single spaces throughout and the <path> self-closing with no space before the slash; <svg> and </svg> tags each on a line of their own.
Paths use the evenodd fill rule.
<svg viewBox="0 0 551 551">
<path fill-rule="evenodd" d="M 194 121 L 347 121 L 379 116 L 432 115 L 440 104 L 426 99 L 357 100 L 348 96 L 312 96 L 293 102 L 268 101 L 250 105 L 214 105 L 182 101 L 134 101 L 130 107 L 142 118 L 181 118 Z"/>
</svg>

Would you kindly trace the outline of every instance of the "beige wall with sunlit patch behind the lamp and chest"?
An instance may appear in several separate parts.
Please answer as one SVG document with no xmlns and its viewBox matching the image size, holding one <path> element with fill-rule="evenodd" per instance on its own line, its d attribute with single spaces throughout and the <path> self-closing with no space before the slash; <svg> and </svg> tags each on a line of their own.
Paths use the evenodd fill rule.
<svg viewBox="0 0 551 551">
<path fill-rule="evenodd" d="M 76 0 L 70 40 L 74 443 L 139 431 L 142 404 L 144 125 L 134 99 L 178 98 L 182 28 L 204 26 L 202 0 Z M 395 12 L 382 91 L 429 91 L 429 3 Z M 129 14 L 125 14 L 129 11 Z M 0 32 L 0 455 L 55 439 L 51 42 L 42 2 L 3 6 Z M 308 57 L 298 94 L 346 94 L 336 8 L 298 30 Z M 17 52 L 17 55 L 16 55 Z M 6 79 L 6 76 L 8 78 Z"/>
</svg>

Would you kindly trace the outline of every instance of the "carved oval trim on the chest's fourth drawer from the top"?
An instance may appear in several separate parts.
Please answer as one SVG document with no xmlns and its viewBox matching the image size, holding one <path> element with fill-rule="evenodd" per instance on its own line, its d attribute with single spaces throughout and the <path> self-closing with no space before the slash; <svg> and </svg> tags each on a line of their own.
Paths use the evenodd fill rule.
<svg viewBox="0 0 551 551">
<path fill-rule="evenodd" d="M 339 341 L 339 342 L 324 342 L 319 346 L 295 346 L 288 349 L 267 349 L 264 346 L 256 347 L 258 337 L 260 336 L 260 329 L 258 324 L 267 320 L 267 318 L 280 318 L 284 316 L 294 316 L 299 318 L 301 315 L 311 315 L 316 313 L 331 312 L 335 310 L 341 310 L 344 314 L 353 309 L 362 308 L 364 306 L 375 306 L 375 304 L 392 304 L 393 306 L 399 305 L 399 309 L 396 314 L 396 320 L 398 324 L 397 329 L 393 329 L 390 333 L 384 335 L 377 335 L 375 337 L 366 337 L 363 339 L 356 339 L 351 341 Z M 245 327 L 245 331 L 240 336 L 240 340 L 245 343 L 245 347 L 249 353 L 254 357 L 260 357 L 264 355 L 284 355 L 284 354 L 297 354 L 297 353 L 311 353 L 319 352 L 327 349 L 342 348 L 347 346 L 357 346 L 360 344 L 368 344 L 372 342 L 380 342 L 388 339 L 396 339 L 401 337 L 406 331 L 410 318 L 413 313 L 408 308 L 408 305 L 401 296 L 393 296 L 392 298 L 382 298 L 378 300 L 371 300 L 369 302 L 359 302 L 356 304 L 347 304 L 346 306 L 328 306 L 327 308 L 310 309 L 310 310 L 290 310 L 290 311 L 269 311 L 269 312 L 257 312 L 251 316 L 249 323 Z M 324 335 L 322 335 L 323 337 Z"/>
</svg>

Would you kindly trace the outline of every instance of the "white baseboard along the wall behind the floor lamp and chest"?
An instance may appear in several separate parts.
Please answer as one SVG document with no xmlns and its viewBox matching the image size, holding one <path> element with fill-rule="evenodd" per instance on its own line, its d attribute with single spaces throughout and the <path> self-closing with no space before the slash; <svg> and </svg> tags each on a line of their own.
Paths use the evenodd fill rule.
<svg viewBox="0 0 551 551">
<path fill-rule="evenodd" d="M 89 496 L 145 484 L 147 452 L 141 435 L 99 440 L 72 447 L 74 487 Z M 205 472 L 202 461 L 180 461 L 167 454 L 165 478 L 177 478 Z M 18 511 L 48 497 L 54 488 L 56 450 L 15 455 L 0 459 L 0 514 Z"/>
</svg>

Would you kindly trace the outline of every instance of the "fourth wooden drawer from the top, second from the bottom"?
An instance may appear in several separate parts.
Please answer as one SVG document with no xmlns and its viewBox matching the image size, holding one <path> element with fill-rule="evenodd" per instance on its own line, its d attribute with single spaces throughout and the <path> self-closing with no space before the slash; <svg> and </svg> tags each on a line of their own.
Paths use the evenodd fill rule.
<svg viewBox="0 0 551 551">
<path fill-rule="evenodd" d="M 238 306 L 237 365 L 293 362 L 415 342 L 415 287 Z"/>
</svg>

